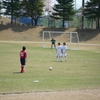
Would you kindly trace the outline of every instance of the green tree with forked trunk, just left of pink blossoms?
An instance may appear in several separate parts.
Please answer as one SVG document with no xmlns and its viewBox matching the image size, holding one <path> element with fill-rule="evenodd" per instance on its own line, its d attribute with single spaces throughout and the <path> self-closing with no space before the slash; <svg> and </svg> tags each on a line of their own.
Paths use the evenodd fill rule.
<svg viewBox="0 0 100 100">
<path fill-rule="evenodd" d="M 23 11 L 22 16 L 31 17 L 32 26 L 33 20 L 36 26 L 38 18 L 42 15 L 43 7 L 44 4 L 42 0 L 23 0 L 21 3 L 21 9 Z"/>
</svg>

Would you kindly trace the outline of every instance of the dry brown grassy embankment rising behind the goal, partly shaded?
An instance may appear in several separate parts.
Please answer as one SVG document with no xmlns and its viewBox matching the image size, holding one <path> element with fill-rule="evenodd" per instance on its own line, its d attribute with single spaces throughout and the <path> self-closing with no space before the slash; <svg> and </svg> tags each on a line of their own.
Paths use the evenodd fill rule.
<svg viewBox="0 0 100 100">
<path fill-rule="evenodd" d="M 76 31 L 79 34 L 80 42 L 100 44 L 100 30 L 96 29 L 76 29 L 76 28 L 66 29 L 66 28 L 45 28 L 45 27 L 11 26 L 11 25 L 0 25 L 0 40 L 41 42 L 43 31 L 68 31 L 68 32 Z M 58 40 L 66 41 L 65 34 L 55 35 L 55 38 L 57 38 Z"/>
</svg>

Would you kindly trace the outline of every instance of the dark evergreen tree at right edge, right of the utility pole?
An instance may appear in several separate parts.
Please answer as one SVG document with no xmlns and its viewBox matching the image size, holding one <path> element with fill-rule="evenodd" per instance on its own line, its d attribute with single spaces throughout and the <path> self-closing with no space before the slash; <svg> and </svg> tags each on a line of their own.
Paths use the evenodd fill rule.
<svg viewBox="0 0 100 100">
<path fill-rule="evenodd" d="M 88 19 L 97 20 L 97 29 L 100 28 L 100 0 L 87 1 L 84 15 Z"/>
</svg>

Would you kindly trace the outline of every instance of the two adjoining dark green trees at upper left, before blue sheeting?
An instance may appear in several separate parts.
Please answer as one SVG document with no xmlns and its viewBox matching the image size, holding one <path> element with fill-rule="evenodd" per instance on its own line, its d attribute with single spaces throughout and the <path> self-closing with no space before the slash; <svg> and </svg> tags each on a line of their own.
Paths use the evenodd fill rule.
<svg viewBox="0 0 100 100">
<path fill-rule="evenodd" d="M 31 17 L 37 25 L 38 18 L 42 15 L 44 4 L 42 0 L 7 0 L 3 1 L 4 14 L 11 15 L 11 24 L 13 17 Z"/>
</svg>

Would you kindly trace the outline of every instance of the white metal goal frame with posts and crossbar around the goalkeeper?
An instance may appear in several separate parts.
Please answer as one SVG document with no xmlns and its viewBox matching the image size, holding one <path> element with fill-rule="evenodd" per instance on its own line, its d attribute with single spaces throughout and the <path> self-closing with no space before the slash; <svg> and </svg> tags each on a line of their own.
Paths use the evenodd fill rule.
<svg viewBox="0 0 100 100">
<path fill-rule="evenodd" d="M 79 36 L 78 36 L 78 32 L 63 32 L 63 31 L 43 31 L 42 33 L 42 47 L 44 47 L 44 34 L 45 33 L 49 33 L 49 37 L 50 37 L 50 40 L 51 40 L 51 34 L 50 33 L 67 33 L 67 34 L 70 34 L 70 50 L 81 50 L 80 48 L 80 42 L 79 42 Z M 76 34 L 76 37 L 77 37 L 77 44 L 79 46 L 79 49 L 72 49 L 72 34 Z"/>
</svg>

